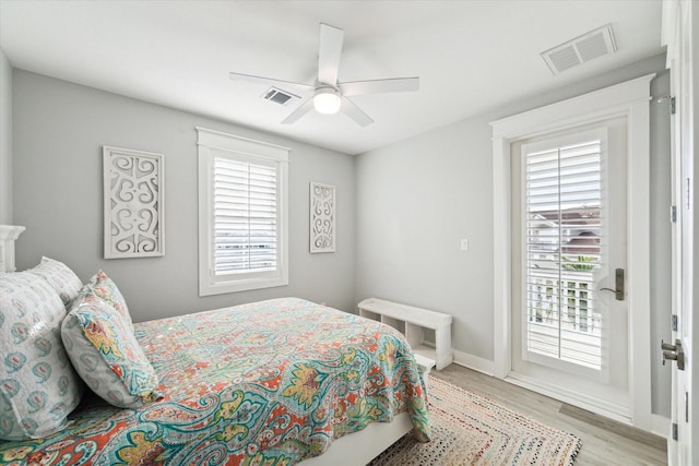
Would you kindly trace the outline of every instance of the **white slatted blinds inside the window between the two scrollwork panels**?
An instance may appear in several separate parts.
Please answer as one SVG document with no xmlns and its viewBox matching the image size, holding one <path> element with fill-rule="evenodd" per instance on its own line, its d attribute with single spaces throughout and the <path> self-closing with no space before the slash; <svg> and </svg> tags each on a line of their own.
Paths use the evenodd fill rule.
<svg viewBox="0 0 699 466">
<path fill-rule="evenodd" d="M 275 271 L 276 167 L 215 157 L 214 274 Z"/>
</svg>

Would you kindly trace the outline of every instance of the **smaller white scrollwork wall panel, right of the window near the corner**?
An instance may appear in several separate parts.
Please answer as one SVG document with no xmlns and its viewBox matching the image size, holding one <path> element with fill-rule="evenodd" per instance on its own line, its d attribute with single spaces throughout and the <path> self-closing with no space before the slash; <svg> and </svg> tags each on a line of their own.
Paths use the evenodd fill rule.
<svg viewBox="0 0 699 466">
<path fill-rule="evenodd" d="M 310 252 L 335 251 L 335 187 L 310 183 Z"/>
</svg>

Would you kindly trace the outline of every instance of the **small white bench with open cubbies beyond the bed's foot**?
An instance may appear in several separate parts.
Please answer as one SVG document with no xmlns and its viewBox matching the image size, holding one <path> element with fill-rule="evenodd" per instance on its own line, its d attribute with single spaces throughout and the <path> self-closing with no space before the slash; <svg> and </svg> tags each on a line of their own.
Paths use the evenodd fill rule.
<svg viewBox="0 0 699 466">
<path fill-rule="evenodd" d="M 433 366 L 441 370 L 453 361 L 451 315 L 377 298 L 365 299 L 359 302 L 358 308 L 359 315 L 383 322 L 404 333 L 417 363 L 426 367 L 425 374 Z M 425 328 L 435 331 L 434 348 L 424 344 Z"/>
</svg>

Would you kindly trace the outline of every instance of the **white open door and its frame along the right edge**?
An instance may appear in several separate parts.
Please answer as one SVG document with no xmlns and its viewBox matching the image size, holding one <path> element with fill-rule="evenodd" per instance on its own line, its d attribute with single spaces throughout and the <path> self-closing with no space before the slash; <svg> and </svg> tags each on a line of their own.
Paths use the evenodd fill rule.
<svg viewBox="0 0 699 466">
<path fill-rule="evenodd" d="M 673 204 L 676 223 L 673 224 L 673 314 L 677 328 L 673 330 L 673 342 L 680 339 L 685 349 L 685 370 L 672 363 L 672 422 L 677 426 L 676 438 L 668 442 L 667 463 L 671 466 L 695 464 L 699 444 L 699 409 L 692 387 L 699 386 L 699 374 L 694 365 L 697 354 L 695 335 L 699 332 L 699 319 L 692 310 L 699 302 L 699 287 L 692 277 L 699 276 L 699 261 L 692 256 L 698 243 L 698 216 L 694 214 L 699 201 L 696 180 L 699 179 L 697 140 L 699 105 L 697 104 L 697 60 L 699 59 L 699 9 L 691 1 L 665 0 L 663 2 L 663 44 L 667 46 L 667 68 L 671 70 L 671 93 L 676 111 L 673 115 Z M 691 55 L 690 55 L 691 53 Z M 694 77 L 694 79 L 692 79 Z M 694 121 L 692 121 L 694 120 Z M 694 127 L 692 127 L 694 123 Z M 694 174 L 690 163 L 694 162 Z M 686 232 L 694 229 L 694 238 Z M 686 294 L 685 294 L 686 292 Z M 694 295 L 694 296 L 692 296 Z M 694 309 L 692 309 L 694 306 Z M 696 312 L 694 312 L 696 314 Z M 689 418 L 686 419 L 685 416 Z M 675 437 L 675 435 L 673 435 Z"/>
</svg>

